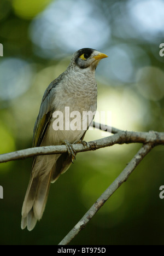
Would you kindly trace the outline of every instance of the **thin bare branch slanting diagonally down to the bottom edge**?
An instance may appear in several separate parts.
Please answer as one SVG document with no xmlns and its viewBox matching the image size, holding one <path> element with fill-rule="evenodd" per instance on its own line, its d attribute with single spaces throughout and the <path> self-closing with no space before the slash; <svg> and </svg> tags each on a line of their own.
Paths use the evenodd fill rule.
<svg viewBox="0 0 164 256">
<path fill-rule="evenodd" d="M 74 228 L 63 238 L 63 240 L 58 245 L 68 245 L 72 239 L 78 235 L 78 233 L 85 228 L 86 224 L 90 219 L 96 214 L 96 212 L 104 205 L 104 203 L 109 199 L 110 196 L 124 183 L 127 181 L 130 174 L 137 167 L 137 165 L 142 161 L 145 155 L 147 155 L 153 148 L 151 144 L 145 144 L 134 158 L 125 167 L 124 171 L 115 179 L 115 181 L 107 188 L 106 191 L 97 199 L 97 201 L 92 205 L 92 207 L 85 213 L 83 218 L 74 226 Z"/>
</svg>

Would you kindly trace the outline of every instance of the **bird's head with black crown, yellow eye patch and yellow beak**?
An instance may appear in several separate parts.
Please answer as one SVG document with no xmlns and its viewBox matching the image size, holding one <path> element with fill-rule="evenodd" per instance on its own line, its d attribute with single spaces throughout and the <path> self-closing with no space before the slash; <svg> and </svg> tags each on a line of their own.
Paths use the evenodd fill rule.
<svg viewBox="0 0 164 256">
<path fill-rule="evenodd" d="M 101 59 L 107 58 L 106 54 L 91 48 L 83 48 L 76 51 L 71 59 L 70 65 L 80 69 L 91 68 L 95 70 Z"/>
</svg>

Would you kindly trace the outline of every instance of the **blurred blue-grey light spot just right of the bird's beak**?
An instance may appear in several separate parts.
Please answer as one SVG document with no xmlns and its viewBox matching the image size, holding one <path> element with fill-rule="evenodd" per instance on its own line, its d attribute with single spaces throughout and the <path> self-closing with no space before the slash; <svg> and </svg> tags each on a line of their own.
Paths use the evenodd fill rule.
<svg viewBox="0 0 164 256">
<path fill-rule="evenodd" d="M 150 63 L 147 53 L 137 45 L 116 44 L 105 49 L 105 52 L 109 59 L 101 63 L 97 73 L 107 85 L 111 83 L 109 81 L 119 86 L 136 82 L 137 70 Z"/>
</svg>

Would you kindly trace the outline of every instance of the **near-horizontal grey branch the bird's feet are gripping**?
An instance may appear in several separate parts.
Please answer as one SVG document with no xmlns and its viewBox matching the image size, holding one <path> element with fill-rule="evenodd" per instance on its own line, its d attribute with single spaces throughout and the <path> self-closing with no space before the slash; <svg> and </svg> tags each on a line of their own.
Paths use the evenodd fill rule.
<svg viewBox="0 0 164 256">
<path fill-rule="evenodd" d="M 113 146 L 114 144 L 124 144 L 124 143 L 126 144 L 151 143 L 154 146 L 164 145 L 163 132 L 155 132 L 155 131 L 133 132 L 133 131 L 121 131 L 115 128 L 112 128 L 112 132 L 115 133 L 113 136 L 97 139 L 96 141 L 87 142 L 86 146 L 80 143 L 73 144 L 72 146 L 74 150 L 77 153 L 79 153 L 79 152 L 85 152 L 89 150 L 96 150 L 99 148 Z M 67 148 L 65 145 L 28 148 L 28 149 L 23 149 L 16 152 L 0 155 L 0 163 L 18 160 L 18 159 L 30 158 L 36 155 L 62 154 L 66 152 L 67 152 Z"/>
</svg>

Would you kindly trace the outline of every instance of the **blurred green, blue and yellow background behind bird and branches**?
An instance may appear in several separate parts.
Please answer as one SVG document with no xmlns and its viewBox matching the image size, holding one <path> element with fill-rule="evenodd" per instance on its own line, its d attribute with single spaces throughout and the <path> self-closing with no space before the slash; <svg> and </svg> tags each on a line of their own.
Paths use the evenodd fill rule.
<svg viewBox="0 0 164 256">
<path fill-rule="evenodd" d="M 74 51 L 85 47 L 109 56 L 96 71 L 98 110 L 110 111 L 108 124 L 163 131 L 163 0 L 1 0 L 0 43 L 0 154 L 32 146 L 46 87 L 65 71 Z M 90 130 L 85 140 L 102 136 Z M 51 185 L 43 219 L 32 232 L 20 228 L 32 159 L 0 164 L 0 244 L 57 245 L 139 147 L 78 154 Z M 162 146 L 149 153 L 70 244 L 163 245 L 163 153 Z"/>
</svg>

